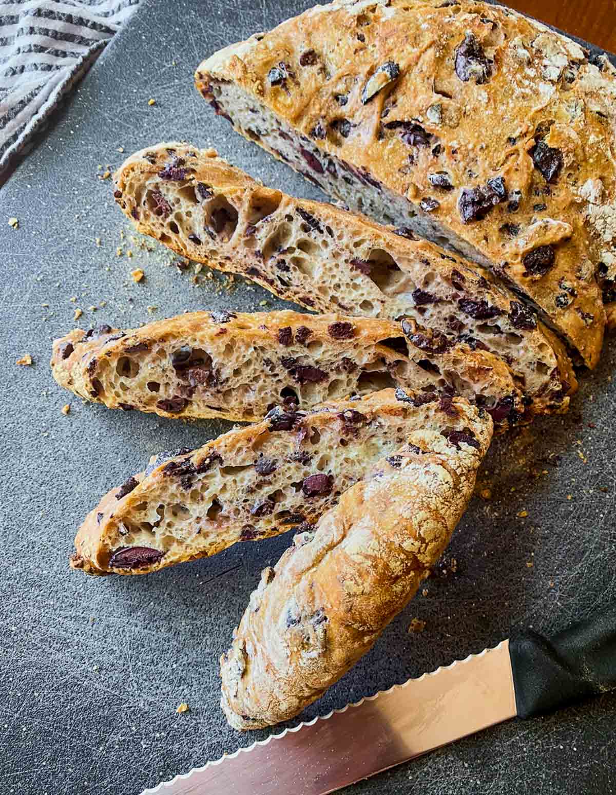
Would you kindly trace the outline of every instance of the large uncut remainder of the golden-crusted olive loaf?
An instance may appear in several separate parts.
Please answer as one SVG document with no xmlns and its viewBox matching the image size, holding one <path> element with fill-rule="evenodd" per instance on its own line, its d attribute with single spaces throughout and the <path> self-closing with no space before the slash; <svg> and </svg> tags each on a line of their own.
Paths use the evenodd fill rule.
<svg viewBox="0 0 616 795">
<path fill-rule="evenodd" d="M 474 0 L 336 0 L 216 52 L 196 86 L 325 192 L 459 250 L 594 366 L 616 274 L 616 72 Z"/>
</svg>

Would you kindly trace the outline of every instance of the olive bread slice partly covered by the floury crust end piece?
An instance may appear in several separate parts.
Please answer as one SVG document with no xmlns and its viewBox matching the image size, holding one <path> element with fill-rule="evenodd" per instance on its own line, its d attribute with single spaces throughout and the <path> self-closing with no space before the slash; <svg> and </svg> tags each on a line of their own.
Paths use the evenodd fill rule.
<svg viewBox="0 0 616 795">
<path fill-rule="evenodd" d="M 310 412 L 273 409 L 198 450 L 153 456 L 87 515 L 71 565 L 88 574 L 145 574 L 315 522 L 411 432 L 457 428 L 459 405 L 467 403 L 383 390 Z"/>
</svg>

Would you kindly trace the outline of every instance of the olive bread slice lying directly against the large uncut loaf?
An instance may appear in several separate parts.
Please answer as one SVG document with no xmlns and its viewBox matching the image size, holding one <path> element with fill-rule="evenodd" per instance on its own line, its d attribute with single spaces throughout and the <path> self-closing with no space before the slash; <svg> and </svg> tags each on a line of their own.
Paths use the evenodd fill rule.
<svg viewBox="0 0 616 795">
<path fill-rule="evenodd" d="M 532 310 L 488 273 L 405 230 L 264 188 L 211 150 L 187 145 L 143 149 L 115 180 L 116 200 L 138 230 L 197 262 L 243 273 L 316 311 L 407 316 L 491 351 L 536 413 L 566 409 L 575 391 L 563 343 Z"/>
</svg>

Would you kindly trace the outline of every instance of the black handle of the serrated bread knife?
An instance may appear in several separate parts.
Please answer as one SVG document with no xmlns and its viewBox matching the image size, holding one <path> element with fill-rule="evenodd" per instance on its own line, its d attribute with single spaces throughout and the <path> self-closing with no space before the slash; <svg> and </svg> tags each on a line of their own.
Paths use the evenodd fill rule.
<svg viewBox="0 0 616 795">
<path fill-rule="evenodd" d="M 509 656 L 520 718 L 612 690 L 616 688 L 616 603 L 553 638 L 533 630 L 514 634 Z"/>
</svg>

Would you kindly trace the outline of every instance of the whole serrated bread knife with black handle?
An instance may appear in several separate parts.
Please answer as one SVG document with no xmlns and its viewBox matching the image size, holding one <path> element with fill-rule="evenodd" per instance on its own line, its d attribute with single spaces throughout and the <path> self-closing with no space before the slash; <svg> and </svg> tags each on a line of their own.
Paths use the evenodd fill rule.
<svg viewBox="0 0 616 795">
<path fill-rule="evenodd" d="M 326 795 L 495 723 L 616 688 L 616 603 L 286 729 L 142 795 Z"/>
</svg>

